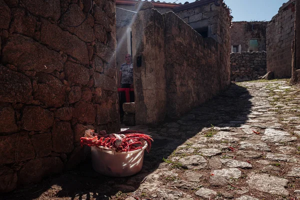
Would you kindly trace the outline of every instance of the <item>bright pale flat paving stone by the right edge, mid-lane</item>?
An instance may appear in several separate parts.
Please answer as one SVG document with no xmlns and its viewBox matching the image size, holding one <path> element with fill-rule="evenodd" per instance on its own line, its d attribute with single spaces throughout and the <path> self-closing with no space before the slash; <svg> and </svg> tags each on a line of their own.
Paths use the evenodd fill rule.
<svg viewBox="0 0 300 200">
<path fill-rule="evenodd" d="M 266 128 L 264 131 L 264 135 L 261 137 L 261 140 L 267 142 L 286 142 L 295 141 L 297 140 L 297 137 L 290 136 L 290 134 L 286 131 Z"/>
</svg>

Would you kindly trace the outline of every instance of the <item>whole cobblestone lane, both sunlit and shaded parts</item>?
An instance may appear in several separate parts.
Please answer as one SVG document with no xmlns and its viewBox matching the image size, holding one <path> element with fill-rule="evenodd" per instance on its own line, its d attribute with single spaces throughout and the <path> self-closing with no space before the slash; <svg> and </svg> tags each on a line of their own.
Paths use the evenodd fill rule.
<svg viewBox="0 0 300 200">
<path fill-rule="evenodd" d="M 140 173 L 103 177 L 87 161 L 6 199 L 300 199 L 299 93 L 287 80 L 231 84 L 180 120 L 133 127 L 154 139 Z"/>
</svg>

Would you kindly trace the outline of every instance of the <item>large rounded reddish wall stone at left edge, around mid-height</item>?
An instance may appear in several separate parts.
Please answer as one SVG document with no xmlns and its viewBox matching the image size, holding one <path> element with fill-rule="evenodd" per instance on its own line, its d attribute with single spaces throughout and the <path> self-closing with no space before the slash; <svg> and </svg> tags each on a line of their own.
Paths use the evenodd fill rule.
<svg viewBox="0 0 300 200">
<path fill-rule="evenodd" d="M 32 86 L 25 75 L 0 64 L 0 101 L 26 103 L 31 99 Z"/>
</svg>

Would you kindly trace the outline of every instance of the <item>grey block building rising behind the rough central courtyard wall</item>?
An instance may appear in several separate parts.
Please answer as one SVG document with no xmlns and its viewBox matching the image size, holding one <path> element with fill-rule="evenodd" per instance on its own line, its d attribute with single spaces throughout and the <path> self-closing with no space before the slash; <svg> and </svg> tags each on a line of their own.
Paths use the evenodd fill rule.
<svg viewBox="0 0 300 200">
<path fill-rule="evenodd" d="M 140 9 L 134 6 L 136 2 L 137 0 L 116 0 L 117 69 L 124 62 L 125 53 L 132 54 L 132 40 L 135 38 L 132 38 L 131 26 L 136 17 L 134 12 Z M 214 8 L 221 4 L 221 0 L 197 0 L 192 3 L 185 2 L 184 4 L 154 0 L 150 2 L 160 13 L 173 11 L 203 37 L 212 37 L 218 42 L 222 41 L 220 37 L 221 19 L 216 17 L 219 10 Z M 226 5 L 224 4 L 224 6 Z M 227 12 L 231 21 L 230 10 L 227 9 Z"/>
</svg>

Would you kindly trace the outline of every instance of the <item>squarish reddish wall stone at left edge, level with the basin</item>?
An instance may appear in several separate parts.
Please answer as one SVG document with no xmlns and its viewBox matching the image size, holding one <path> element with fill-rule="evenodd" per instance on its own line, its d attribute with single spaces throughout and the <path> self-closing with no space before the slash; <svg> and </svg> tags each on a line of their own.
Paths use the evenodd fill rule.
<svg viewBox="0 0 300 200">
<path fill-rule="evenodd" d="M 0 136 L 0 163 L 8 164 L 34 158 L 28 132 Z"/>
</svg>

